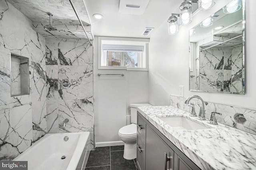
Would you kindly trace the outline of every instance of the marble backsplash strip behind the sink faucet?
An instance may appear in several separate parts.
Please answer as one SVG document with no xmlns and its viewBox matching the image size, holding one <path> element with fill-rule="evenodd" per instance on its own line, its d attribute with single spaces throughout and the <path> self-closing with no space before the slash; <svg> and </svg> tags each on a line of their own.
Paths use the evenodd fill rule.
<svg viewBox="0 0 256 170">
<path fill-rule="evenodd" d="M 188 107 L 188 105 L 185 104 L 185 100 L 186 98 L 184 97 L 171 95 L 170 105 L 185 111 L 191 111 L 191 107 Z M 195 106 L 196 113 L 198 114 L 201 102 L 197 99 L 192 99 L 190 104 Z M 207 119 L 210 118 L 212 111 L 222 113 L 222 115 L 216 114 L 218 123 L 256 135 L 256 110 L 206 102 L 205 113 Z"/>
</svg>

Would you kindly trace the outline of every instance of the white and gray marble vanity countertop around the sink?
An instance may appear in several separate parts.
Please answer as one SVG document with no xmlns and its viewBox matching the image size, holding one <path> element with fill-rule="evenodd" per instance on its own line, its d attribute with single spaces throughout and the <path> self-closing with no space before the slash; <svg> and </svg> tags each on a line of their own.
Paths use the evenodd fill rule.
<svg viewBox="0 0 256 170">
<path fill-rule="evenodd" d="M 172 106 L 137 110 L 202 170 L 256 170 L 256 135 L 218 124 L 210 125 Z M 212 129 L 176 131 L 158 117 L 183 116 Z"/>
</svg>

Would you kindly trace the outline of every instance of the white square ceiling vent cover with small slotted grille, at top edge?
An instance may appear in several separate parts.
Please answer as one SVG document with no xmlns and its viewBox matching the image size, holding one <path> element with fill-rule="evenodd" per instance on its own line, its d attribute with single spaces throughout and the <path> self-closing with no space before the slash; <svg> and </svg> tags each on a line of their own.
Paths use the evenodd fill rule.
<svg viewBox="0 0 256 170">
<path fill-rule="evenodd" d="M 119 12 L 122 14 L 142 15 L 149 0 L 120 0 Z"/>
</svg>

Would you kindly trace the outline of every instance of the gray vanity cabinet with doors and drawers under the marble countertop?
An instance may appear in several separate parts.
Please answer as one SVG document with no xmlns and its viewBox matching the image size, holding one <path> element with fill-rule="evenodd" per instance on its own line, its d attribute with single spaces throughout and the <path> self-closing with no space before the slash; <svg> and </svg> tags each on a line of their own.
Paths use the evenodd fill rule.
<svg viewBox="0 0 256 170">
<path fill-rule="evenodd" d="M 200 170 L 139 112 L 137 123 L 138 170 Z"/>
</svg>

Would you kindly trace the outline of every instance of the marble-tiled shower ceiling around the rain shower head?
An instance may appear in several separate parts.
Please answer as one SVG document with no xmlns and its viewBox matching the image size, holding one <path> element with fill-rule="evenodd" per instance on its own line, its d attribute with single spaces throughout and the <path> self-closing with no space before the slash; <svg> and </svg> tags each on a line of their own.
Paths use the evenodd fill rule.
<svg viewBox="0 0 256 170">
<path fill-rule="evenodd" d="M 87 39 L 69 0 L 8 0 L 8 2 L 30 18 L 33 21 L 33 29 L 44 37 Z M 92 39 L 90 19 L 84 5 L 84 0 L 72 0 L 72 2 L 80 20 L 86 27 L 86 31 L 88 31 L 89 38 Z M 53 14 L 52 25 L 58 31 L 47 31 L 44 29 L 44 25 L 49 24 L 48 12 Z"/>
</svg>

